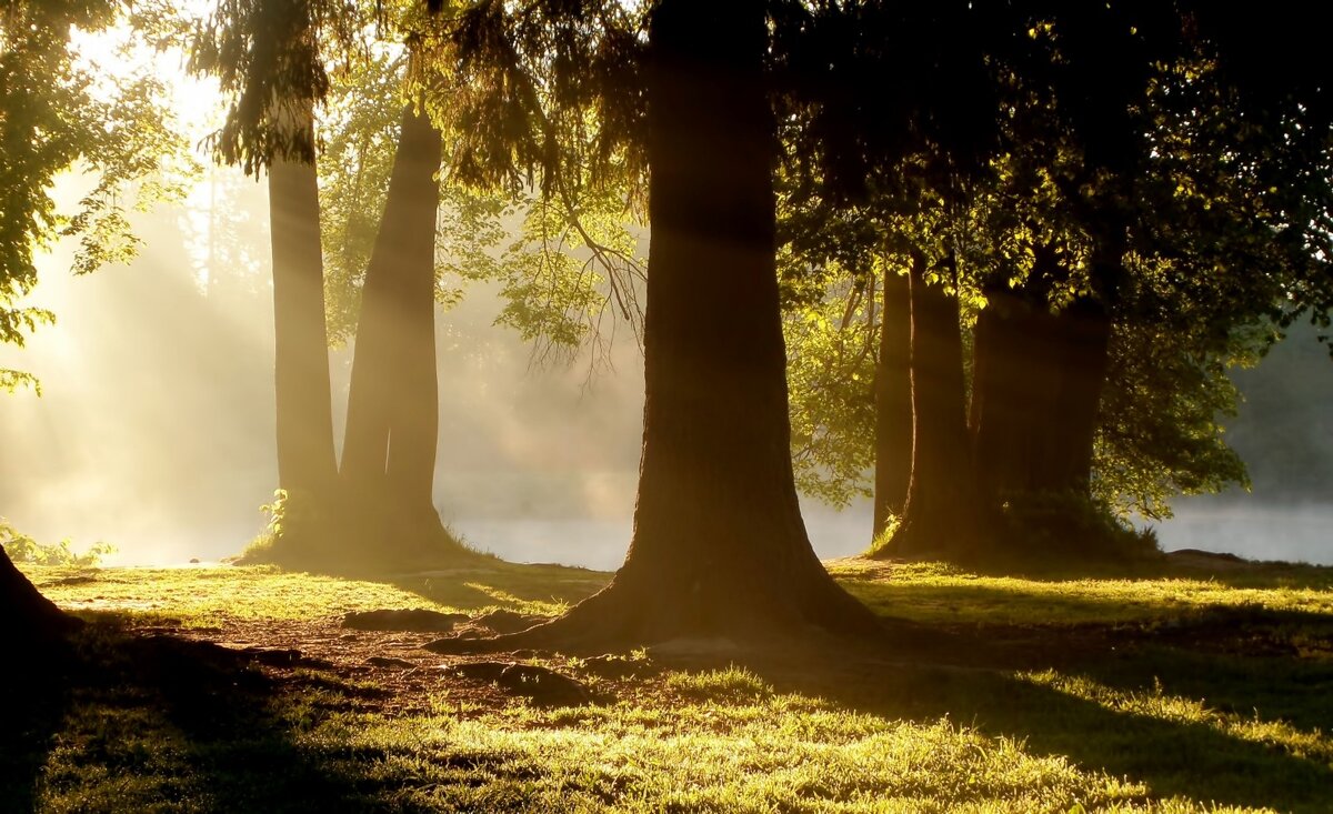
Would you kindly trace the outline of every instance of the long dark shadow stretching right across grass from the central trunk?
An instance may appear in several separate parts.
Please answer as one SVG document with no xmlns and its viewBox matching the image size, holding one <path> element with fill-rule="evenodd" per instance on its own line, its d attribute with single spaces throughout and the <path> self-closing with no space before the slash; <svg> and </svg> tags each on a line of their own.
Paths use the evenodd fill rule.
<svg viewBox="0 0 1333 814">
<path fill-rule="evenodd" d="M 1017 671 L 914 662 L 908 655 L 894 663 L 830 665 L 822 675 L 804 677 L 748 666 L 780 691 L 821 695 L 892 719 L 928 723 L 948 717 L 988 735 L 1020 739 L 1029 753 L 1066 755 L 1085 770 L 1144 782 L 1158 798 L 1333 810 L 1333 761 L 1326 754 L 1301 754 L 1300 743 L 1256 730 L 1241 734 L 1213 715 L 1180 711 L 1202 701 L 1206 710 L 1229 713 L 1233 723 L 1285 721 L 1300 730 L 1297 738 L 1326 733 L 1333 719 L 1322 715 L 1330 703 L 1333 661 L 1148 646 L 1094 659 L 1053 657 L 1053 671 L 1032 673 L 1037 666 L 1026 658 Z"/>
</svg>

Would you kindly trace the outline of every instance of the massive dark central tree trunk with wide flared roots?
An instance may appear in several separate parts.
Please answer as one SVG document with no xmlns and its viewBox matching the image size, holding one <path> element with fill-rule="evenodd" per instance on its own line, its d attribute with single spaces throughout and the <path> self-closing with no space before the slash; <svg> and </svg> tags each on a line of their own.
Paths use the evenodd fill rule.
<svg viewBox="0 0 1333 814">
<path fill-rule="evenodd" d="M 633 540 L 607 589 L 491 647 L 878 630 L 824 570 L 796 498 L 766 41 L 760 0 L 663 0 L 652 12 L 653 230 Z"/>
</svg>

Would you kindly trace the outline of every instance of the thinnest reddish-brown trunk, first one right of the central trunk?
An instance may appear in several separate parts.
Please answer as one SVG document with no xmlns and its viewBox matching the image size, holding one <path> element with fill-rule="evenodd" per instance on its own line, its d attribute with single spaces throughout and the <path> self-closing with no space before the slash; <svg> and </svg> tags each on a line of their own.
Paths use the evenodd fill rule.
<svg viewBox="0 0 1333 814">
<path fill-rule="evenodd" d="M 872 542 L 902 514 L 912 478 L 912 300 L 908 278 L 884 272 L 874 364 L 874 526 Z"/>
</svg>

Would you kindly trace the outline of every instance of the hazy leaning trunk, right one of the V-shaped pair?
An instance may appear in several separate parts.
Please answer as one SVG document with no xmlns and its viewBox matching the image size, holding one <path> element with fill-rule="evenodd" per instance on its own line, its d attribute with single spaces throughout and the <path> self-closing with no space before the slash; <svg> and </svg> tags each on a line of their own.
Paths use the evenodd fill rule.
<svg viewBox="0 0 1333 814">
<path fill-rule="evenodd" d="M 440 133 L 411 107 L 361 294 L 341 477 L 368 557 L 457 553 L 432 505 L 439 441 L 435 225 Z"/>
</svg>

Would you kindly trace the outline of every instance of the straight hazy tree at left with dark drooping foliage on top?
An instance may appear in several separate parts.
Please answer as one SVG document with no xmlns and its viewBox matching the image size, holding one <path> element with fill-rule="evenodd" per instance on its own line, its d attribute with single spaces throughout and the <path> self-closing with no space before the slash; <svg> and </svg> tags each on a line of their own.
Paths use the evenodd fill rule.
<svg viewBox="0 0 1333 814">
<path fill-rule="evenodd" d="M 351 59 L 357 8 L 224 0 L 195 32 L 189 69 L 229 100 L 213 157 L 267 175 L 273 252 L 279 488 L 288 544 L 309 550 L 339 501 L 324 317 L 315 117 L 329 52 Z M 304 526 L 304 528 L 299 528 Z"/>
</svg>

